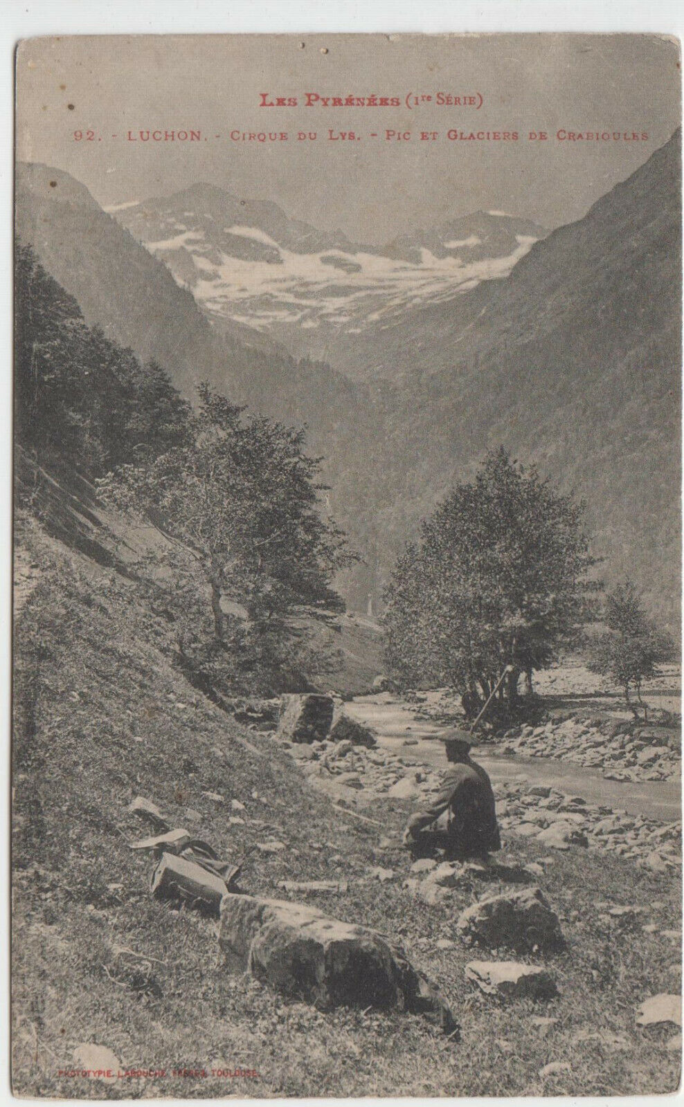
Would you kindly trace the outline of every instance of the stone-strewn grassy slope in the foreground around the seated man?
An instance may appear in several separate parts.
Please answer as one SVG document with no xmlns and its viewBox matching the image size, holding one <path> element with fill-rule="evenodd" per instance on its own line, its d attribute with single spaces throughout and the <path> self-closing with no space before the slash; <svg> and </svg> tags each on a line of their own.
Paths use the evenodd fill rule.
<svg viewBox="0 0 684 1107">
<path fill-rule="evenodd" d="M 641 903 L 644 921 L 677 928 L 681 893 L 671 879 L 618 858 L 574 850 L 555 856 L 542 884 L 569 939 L 568 952 L 548 959 L 561 996 L 500 1005 L 474 994 L 463 970 L 477 954 L 435 945 L 454 937 L 470 897 L 457 891 L 453 907 L 427 908 L 401 880 L 369 881 L 370 865 L 404 876 L 407 858 L 381 851 L 380 831 L 308 792 L 270 739 L 198 697 L 169 663 L 164 625 L 135 606 L 125 581 L 84 558 L 66 558 L 34 527 L 19 537 L 41 578 L 32 592 L 24 589 L 15 638 L 18 1094 L 581 1095 L 676 1087 L 680 1058 L 665 1048 L 672 1027 L 636 1028 L 634 1007 L 680 990 L 678 949 L 641 929 L 607 929 L 593 907 L 599 900 Z M 227 975 L 216 923 L 148 894 L 149 861 L 126 846 L 146 834 L 126 813 L 138 793 L 227 856 L 269 838 L 286 842 L 279 855 L 250 856 L 246 890 L 272 893 L 283 878 L 349 879 L 348 894 L 317 901 L 332 914 L 401 934 L 414 962 L 441 981 L 462 1041 L 445 1039 L 417 1016 L 318 1012 Z M 246 805 L 245 825 L 228 823 L 231 797 Z M 373 814 L 394 831 L 406 809 L 385 800 Z M 506 853 L 537 856 L 524 839 L 511 839 Z M 121 946 L 156 960 L 147 970 L 144 959 L 117 954 Z M 533 1014 L 559 1022 L 542 1037 Z M 620 1034 L 626 1048 L 580 1042 L 580 1031 Z M 259 1078 L 58 1079 L 81 1042 L 108 1046 L 126 1066 L 241 1066 Z M 568 1061 L 572 1073 L 539 1078 L 552 1061 Z"/>
</svg>

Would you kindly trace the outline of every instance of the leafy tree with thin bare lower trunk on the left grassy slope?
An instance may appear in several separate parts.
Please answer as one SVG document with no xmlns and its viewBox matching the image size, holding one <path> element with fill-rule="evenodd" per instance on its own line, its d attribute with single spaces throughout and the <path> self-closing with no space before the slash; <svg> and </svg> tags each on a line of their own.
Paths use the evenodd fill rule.
<svg viewBox="0 0 684 1107">
<path fill-rule="evenodd" d="M 319 459 L 304 454 L 303 432 L 199 391 L 186 444 L 97 487 L 164 535 L 144 576 L 186 663 L 248 691 L 274 687 L 303 663 L 311 620 L 343 610 L 332 579 L 353 555 L 321 516 Z"/>
</svg>

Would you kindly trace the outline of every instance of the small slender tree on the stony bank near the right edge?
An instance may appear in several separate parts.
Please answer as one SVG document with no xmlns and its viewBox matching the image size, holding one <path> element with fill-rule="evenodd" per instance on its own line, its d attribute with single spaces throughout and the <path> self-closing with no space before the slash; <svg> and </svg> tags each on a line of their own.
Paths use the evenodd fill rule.
<svg viewBox="0 0 684 1107">
<path fill-rule="evenodd" d="M 604 633 L 590 642 L 588 668 L 621 687 L 638 716 L 630 701 L 633 687 L 647 720 L 647 705 L 641 699 L 642 682 L 659 675 L 661 662 L 672 660 L 674 643 L 647 617 L 631 581 L 618 584 L 605 598 L 603 623 Z"/>
</svg>

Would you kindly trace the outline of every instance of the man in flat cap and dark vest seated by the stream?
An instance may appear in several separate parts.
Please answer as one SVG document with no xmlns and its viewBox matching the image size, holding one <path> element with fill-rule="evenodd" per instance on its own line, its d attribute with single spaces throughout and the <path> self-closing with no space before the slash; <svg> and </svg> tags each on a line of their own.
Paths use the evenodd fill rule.
<svg viewBox="0 0 684 1107">
<path fill-rule="evenodd" d="M 404 845 L 414 856 L 431 856 L 443 847 L 452 859 L 486 858 L 501 848 L 491 782 L 481 765 L 470 761 L 470 735 L 449 730 L 439 735 L 449 768 L 432 801 L 415 811 L 404 831 Z M 435 827 L 446 813 L 446 832 Z"/>
</svg>

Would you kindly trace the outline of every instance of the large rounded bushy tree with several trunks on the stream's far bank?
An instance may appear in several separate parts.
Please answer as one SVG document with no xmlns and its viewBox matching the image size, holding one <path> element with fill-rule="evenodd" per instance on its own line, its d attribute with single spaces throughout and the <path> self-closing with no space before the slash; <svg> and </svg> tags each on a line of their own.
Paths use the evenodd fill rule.
<svg viewBox="0 0 684 1107">
<path fill-rule="evenodd" d="M 510 664 L 498 693 L 510 705 L 520 674 L 572 645 L 595 610 L 582 520 L 582 504 L 490 452 L 396 563 L 384 615 L 393 672 L 452 685 L 473 712 Z"/>
</svg>

